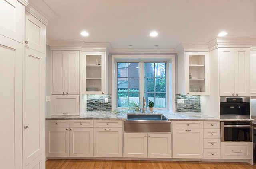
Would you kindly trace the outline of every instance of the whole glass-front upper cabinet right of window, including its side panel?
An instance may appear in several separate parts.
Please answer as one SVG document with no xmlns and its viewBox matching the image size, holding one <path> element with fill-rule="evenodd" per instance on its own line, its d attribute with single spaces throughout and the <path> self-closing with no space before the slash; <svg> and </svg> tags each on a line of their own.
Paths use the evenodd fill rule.
<svg viewBox="0 0 256 169">
<path fill-rule="evenodd" d="M 178 91 L 186 95 L 209 95 L 208 52 L 178 55 Z"/>
</svg>

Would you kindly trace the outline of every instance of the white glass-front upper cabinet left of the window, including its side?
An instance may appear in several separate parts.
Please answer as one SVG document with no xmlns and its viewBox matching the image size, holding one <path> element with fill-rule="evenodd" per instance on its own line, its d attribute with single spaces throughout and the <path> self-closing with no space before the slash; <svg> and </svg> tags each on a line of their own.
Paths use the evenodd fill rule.
<svg viewBox="0 0 256 169">
<path fill-rule="evenodd" d="M 83 52 L 83 94 L 108 94 L 106 52 Z"/>
</svg>

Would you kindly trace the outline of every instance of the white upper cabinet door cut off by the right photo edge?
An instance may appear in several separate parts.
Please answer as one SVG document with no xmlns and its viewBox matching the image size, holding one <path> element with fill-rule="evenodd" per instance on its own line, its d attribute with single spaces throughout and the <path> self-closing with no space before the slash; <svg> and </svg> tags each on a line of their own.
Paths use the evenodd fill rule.
<svg viewBox="0 0 256 169">
<path fill-rule="evenodd" d="M 250 94 L 256 96 L 256 51 L 250 53 Z"/>
</svg>

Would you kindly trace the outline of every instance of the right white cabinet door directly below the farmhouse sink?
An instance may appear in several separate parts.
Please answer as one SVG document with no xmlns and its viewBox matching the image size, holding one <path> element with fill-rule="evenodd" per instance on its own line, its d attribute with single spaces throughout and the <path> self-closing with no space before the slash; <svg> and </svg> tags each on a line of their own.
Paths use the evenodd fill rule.
<svg viewBox="0 0 256 169">
<path fill-rule="evenodd" d="M 148 158 L 171 158 L 172 135 L 148 133 Z"/>
</svg>

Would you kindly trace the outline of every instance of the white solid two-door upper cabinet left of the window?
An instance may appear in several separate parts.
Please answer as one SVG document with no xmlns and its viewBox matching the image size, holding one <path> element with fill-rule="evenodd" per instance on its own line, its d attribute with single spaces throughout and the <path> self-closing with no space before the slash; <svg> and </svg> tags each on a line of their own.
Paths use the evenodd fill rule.
<svg viewBox="0 0 256 169">
<path fill-rule="evenodd" d="M 79 51 L 52 51 L 52 94 L 79 94 Z"/>
</svg>

